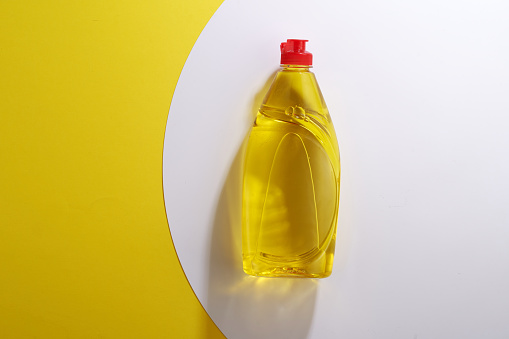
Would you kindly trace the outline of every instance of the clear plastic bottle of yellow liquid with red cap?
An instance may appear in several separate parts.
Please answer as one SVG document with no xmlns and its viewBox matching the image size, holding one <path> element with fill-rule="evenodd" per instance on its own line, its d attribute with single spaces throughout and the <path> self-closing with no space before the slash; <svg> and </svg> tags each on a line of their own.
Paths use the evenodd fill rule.
<svg viewBox="0 0 509 339">
<path fill-rule="evenodd" d="M 258 111 L 244 162 L 244 271 L 324 278 L 332 272 L 339 149 L 310 72 L 307 40 L 281 44 L 281 69 Z"/>
</svg>

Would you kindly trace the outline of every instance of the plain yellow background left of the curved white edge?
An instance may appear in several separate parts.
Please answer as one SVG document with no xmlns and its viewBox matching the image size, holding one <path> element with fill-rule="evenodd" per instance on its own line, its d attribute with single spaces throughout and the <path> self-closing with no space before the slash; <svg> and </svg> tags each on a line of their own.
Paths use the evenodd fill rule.
<svg viewBox="0 0 509 339">
<path fill-rule="evenodd" d="M 168 109 L 221 0 L 0 2 L 0 337 L 222 338 L 176 256 Z"/>
</svg>

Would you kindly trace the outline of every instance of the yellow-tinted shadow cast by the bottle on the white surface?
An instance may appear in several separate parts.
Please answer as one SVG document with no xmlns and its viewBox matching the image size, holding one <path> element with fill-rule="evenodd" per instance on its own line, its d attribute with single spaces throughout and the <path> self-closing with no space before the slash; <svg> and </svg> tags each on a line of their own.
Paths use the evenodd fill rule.
<svg viewBox="0 0 509 339">
<path fill-rule="evenodd" d="M 270 79 L 255 97 L 253 119 Z M 252 277 L 242 269 L 242 164 L 239 148 L 218 200 L 210 236 L 205 306 L 226 337 L 307 338 L 319 282 L 306 278 Z"/>
</svg>

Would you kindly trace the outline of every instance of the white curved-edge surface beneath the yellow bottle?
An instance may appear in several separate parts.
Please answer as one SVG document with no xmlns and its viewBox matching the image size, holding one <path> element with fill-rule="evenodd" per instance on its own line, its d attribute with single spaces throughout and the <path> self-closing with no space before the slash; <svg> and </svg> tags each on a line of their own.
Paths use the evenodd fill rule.
<svg viewBox="0 0 509 339">
<path fill-rule="evenodd" d="M 175 247 L 228 338 L 509 337 L 509 3 L 226 0 L 180 76 L 164 145 Z M 333 274 L 242 271 L 244 137 L 309 39 L 342 160 Z"/>
</svg>

